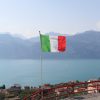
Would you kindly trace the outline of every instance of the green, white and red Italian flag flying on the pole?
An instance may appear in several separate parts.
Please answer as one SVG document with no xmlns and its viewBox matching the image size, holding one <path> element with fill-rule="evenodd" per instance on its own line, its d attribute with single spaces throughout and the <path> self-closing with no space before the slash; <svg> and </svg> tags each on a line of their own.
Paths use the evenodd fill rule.
<svg viewBox="0 0 100 100">
<path fill-rule="evenodd" d="M 64 52 L 66 49 L 66 36 L 40 35 L 43 52 Z"/>
</svg>

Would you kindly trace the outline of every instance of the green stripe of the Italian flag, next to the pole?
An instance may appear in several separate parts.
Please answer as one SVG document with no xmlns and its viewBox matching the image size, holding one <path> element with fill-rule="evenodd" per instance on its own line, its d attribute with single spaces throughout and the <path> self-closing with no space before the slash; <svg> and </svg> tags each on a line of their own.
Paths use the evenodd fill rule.
<svg viewBox="0 0 100 100">
<path fill-rule="evenodd" d="M 48 35 L 40 35 L 41 48 L 43 52 L 50 52 L 50 40 Z"/>
</svg>

